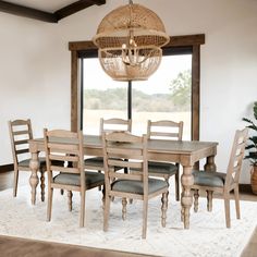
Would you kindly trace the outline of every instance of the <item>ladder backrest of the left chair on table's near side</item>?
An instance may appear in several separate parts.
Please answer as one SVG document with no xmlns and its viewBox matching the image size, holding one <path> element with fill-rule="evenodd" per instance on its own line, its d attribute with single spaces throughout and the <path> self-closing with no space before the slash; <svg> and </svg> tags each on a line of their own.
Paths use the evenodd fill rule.
<svg viewBox="0 0 257 257">
<path fill-rule="evenodd" d="M 81 186 L 85 189 L 83 134 L 64 130 L 44 130 L 48 183 L 52 183 L 52 172 L 81 174 Z M 65 163 L 63 166 L 63 162 Z M 73 163 L 72 167 L 68 163 Z"/>
</svg>

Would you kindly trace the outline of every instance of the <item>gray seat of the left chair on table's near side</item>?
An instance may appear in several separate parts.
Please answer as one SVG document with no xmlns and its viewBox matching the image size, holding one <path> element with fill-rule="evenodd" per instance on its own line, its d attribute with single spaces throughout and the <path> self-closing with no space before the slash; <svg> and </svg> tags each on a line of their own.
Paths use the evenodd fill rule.
<svg viewBox="0 0 257 257">
<path fill-rule="evenodd" d="M 86 171 L 86 186 L 90 187 L 94 184 L 99 184 L 100 182 L 105 182 L 105 175 L 102 173 Z M 60 173 L 53 178 L 53 182 L 58 184 L 66 184 L 66 185 L 81 185 L 81 176 L 79 174 L 71 174 L 71 173 Z"/>
</svg>

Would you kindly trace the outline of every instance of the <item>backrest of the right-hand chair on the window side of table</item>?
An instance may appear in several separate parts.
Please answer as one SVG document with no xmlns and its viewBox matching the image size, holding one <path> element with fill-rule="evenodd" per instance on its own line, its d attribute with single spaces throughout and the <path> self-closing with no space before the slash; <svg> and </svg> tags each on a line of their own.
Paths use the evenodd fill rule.
<svg viewBox="0 0 257 257">
<path fill-rule="evenodd" d="M 147 121 L 147 138 L 182 140 L 183 121 Z"/>
</svg>

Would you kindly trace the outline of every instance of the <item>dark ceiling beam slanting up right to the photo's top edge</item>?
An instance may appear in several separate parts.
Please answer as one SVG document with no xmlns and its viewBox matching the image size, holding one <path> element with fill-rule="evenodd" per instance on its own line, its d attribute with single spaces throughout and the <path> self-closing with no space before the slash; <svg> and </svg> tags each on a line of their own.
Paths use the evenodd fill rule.
<svg viewBox="0 0 257 257">
<path fill-rule="evenodd" d="M 59 21 L 63 17 L 72 15 L 81 10 L 84 10 L 90 5 L 94 5 L 94 4 L 101 5 L 105 3 L 106 3 L 106 0 L 79 0 L 79 1 L 71 3 L 71 4 L 56 11 L 53 14 L 56 15 L 57 20 Z"/>
</svg>

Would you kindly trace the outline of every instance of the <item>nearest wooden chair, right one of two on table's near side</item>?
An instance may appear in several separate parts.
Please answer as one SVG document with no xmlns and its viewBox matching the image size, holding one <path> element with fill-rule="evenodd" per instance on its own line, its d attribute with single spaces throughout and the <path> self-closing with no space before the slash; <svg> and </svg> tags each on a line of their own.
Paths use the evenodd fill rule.
<svg viewBox="0 0 257 257">
<path fill-rule="evenodd" d="M 166 227 L 168 208 L 168 183 L 163 180 L 148 178 L 147 137 L 139 137 L 126 132 L 103 133 L 103 159 L 106 179 L 106 203 L 103 231 L 108 230 L 110 200 L 122 198 L 122 218 L 126 217 L 126 198 L 143 200 L 143 232 L 146 238 L 148 200 L 162 195 L 161 223 Z M 133 148 L 133 145 L 136 145 Z M 136 172 L 115 172 L 114 167 L 136 169 Z"/>
</svg>

